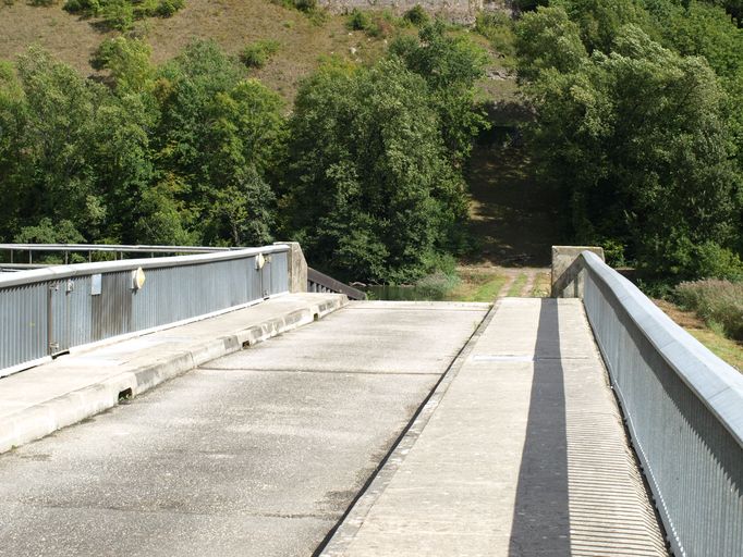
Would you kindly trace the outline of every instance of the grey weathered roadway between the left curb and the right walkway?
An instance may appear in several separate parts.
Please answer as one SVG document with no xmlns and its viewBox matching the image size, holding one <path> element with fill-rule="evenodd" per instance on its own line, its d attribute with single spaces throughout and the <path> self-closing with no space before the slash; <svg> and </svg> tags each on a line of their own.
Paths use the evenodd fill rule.
<svg viewBox="0 0 743 557">
<path fill-rule="evenodd" d="M 351 304 L 1 455 L 0 555 L 310 555 L 486 310 Z"/>
</svg>

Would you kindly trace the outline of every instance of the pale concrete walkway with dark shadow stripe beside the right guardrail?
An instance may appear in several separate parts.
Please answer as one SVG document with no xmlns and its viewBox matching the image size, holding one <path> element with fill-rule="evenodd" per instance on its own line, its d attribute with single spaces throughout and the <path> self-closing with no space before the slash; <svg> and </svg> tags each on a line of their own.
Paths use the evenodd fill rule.
<svg viewBox="0 0 743 557">
<path fill-rule="evenodd" d="M 580 300 L 507 298 L 325 548 L 661 556 Z"/>
</svg>

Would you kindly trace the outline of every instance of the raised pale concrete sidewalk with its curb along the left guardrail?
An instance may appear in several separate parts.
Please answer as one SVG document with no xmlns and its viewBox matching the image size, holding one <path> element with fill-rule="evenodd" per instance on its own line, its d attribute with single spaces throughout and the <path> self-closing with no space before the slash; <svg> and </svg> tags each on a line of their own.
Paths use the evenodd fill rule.
<svg viewBox="0 0 743 557">
<path fill-rule="evenodd" d="M 99 346 L 0 379 L 0 453 L 103 411 L 170 377 L 346 304 L 338 294 L 291 294 Z"/>
</svg>

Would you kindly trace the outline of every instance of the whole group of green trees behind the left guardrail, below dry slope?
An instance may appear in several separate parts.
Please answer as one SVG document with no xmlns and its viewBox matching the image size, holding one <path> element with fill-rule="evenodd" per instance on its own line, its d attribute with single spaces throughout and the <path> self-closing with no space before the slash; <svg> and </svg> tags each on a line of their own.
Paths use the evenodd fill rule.
<svg viewBox="0 0 743 557">
<path fill-rule="evenodd" d="M 137 39 L 106 41 L 97 60 L 111 88 L 38 48 L 0 63 L 0 237 L 271 239 L 280 98 L 212 42 L 157 70 L 149 52 Z"/>
</svg>

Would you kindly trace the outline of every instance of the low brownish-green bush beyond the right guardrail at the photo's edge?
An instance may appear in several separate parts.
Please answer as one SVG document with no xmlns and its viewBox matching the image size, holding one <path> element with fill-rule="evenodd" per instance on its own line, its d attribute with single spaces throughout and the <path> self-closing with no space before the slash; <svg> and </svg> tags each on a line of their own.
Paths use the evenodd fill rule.
<svg viewBox="0 0 743 557">
<path fill-rule="evenodd" d="M 743 341 L 743 282 L 695 281 L 675 287 L 675 301 L 708 325 L 720 325 L 731 338 Z"/>
</svg>

